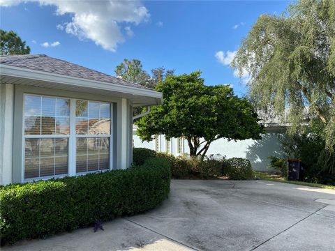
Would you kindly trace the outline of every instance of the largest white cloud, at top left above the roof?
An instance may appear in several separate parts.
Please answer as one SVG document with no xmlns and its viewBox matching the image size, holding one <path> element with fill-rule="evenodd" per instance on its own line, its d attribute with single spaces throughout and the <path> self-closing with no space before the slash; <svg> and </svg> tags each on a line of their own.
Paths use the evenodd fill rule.
<svg viewBox="0 0 335 251">
<path fill-rule="evenodd" d="M 77 36 L 80 40 L 93 40 L 96 45 L 112 52 L 124 41 L 120 24 L 131 27 L 131 24 L 147 22 L 150 17 L 149 11 L 140 1 L 0 0 L 0 6 L 13 6 L 27 1 L 56 6 L 57 15 L 70 14 L 70 22 L 58 24 L 57 29 Z"/>
</svg>

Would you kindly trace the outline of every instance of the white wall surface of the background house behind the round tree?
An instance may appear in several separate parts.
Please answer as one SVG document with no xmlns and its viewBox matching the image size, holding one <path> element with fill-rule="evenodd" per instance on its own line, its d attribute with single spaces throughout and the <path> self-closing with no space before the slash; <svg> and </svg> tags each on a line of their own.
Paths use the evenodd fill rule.
<svg viewBox="0 0 335 251">
<path fill-rule="evenodd" d="M 165 152 L 164 135 L 159 135 L 159 137 L 161 137 L 161 151 Z M 135 132 L 133 133 L 133 144 L 134 147 L 144 147 L 155 150 L 154 140 L 151 142 L 142 142 Z M 177 140 L 172 139 L 171 146 L 173 155 L 177 155 L 176 144 Z M 189 153 L 186 140 L 184 142 L 184 153 Z M 281 143 L 278 140 L 278 133 L 276 132 L 267 133 L 261 140 L 246 139 L 229 142 L 227 139 L 218 139 L 211 143 L 207 151 L 207 155 L 211 154 L 225 155 L 226 158 L 247 158 L 256 171 L 273 171 L 267 168 L 269 165 L 268 157 L 271 155 L 283 155 Z"/>
</svg>

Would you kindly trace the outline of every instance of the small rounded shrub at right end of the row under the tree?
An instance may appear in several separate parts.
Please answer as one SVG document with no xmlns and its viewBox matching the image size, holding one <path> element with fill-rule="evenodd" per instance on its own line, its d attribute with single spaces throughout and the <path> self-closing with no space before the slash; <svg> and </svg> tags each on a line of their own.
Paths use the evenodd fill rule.
<svg viewBox="0 0 335 251">
<path fill-rule="evenodd" d="M 253 169 L 245 158 L 230 158 L 226 160 L 223 174 L 232 180 L 247 180 L 253 178 Z"/>
</svg>

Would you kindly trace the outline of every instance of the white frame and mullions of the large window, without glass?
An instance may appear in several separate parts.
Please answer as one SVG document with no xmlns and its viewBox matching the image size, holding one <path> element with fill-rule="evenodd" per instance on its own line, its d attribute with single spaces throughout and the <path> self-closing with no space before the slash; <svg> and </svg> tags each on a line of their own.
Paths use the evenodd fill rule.
<svg viewBox="0 0 335 251">
<path fill-rule="evenodd" d="M 24 135 L 24 110 L 25 110 L 25 100 L 26 96 L 37 96 L 37 97 L 50 97 L 50 98 L 66 98 L 70 100 L 70 133 L 69 135 Z M 94 102 L 104 102 L 110 104 L 110 135 L 76 135 L 75 134 L 75 101 L 76 100 L 87 100 L 87 101 L 94 101 Z M 29 182 L 29 181 L 40 181 L 40 180 L 47 180 L 50 178 L 62 178 L 66 176 L 81 176 L 85 174 L 90 173 L 98 173 L 98 172 L 106 172 L 112 169 L 113 167 L 113 123 L 114 123 L 114 116 L 113 116 L 113 103 L 107 102 L 107 101 L 101 101 L 101 100 L 89 100 L 85 98 L 69 98 L 66 96 L 50 96 L 50 95 L 44 95 L 44 94 L 34 94 L 34 93 L 23 93 L 23 110 L 22 110 L 22 182 Z M 40 111 L 41 112 L 41 111 Z M 43 138 L 68 138 L 68 174 L 57 174 L 52 176 L 42 176 L 42 177 L 36 177 L 36 178 L 24 178 L 24 164 L 25 164 L 25 139 L 29 138 L 37 138 L 37 139 L 43 139 Z M 110 168 L 104 169 L 104 170 L 94 170 L 94 171 L 88 171 L 88 172 L 76 172 L 76 140 L 77 137 L 109 137 L 110 138 Z M 39 170 L 40 172 L 40 170 Z"/>
</svg>

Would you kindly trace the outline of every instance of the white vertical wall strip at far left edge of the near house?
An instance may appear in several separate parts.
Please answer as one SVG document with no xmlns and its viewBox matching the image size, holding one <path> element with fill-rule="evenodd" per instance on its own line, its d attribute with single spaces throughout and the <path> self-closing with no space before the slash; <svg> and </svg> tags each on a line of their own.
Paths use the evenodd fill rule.
<svg viewBox="0 0 335 251">
<path fill-rule="evenodd" d="M 0 184 L 12 182 L 14 86 L 0 84 Z"/>
</svg>

